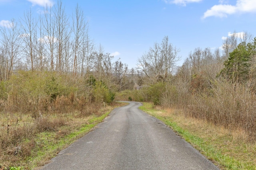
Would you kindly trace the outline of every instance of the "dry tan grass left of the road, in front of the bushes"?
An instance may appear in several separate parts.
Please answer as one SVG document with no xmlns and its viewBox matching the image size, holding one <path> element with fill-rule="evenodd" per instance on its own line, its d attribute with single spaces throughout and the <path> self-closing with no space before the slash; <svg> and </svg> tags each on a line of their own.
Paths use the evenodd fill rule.
<svg viewBox="0 0 256 170">
<path fill-rule="evenodd" d="M 81 114 L 80 111 L 61 114 L 40 113 L 36 119 L 30 114 L 22 115 L 22 119 L 19 114 L 0 114 L 0 169 L 10 166 L 24 166 L 30 169 L 34 166 L 31 160 L 35 160 L 38 165 L 44 164 L 52 154 L 44 156 L 42 160 L 34 159 L 37 156 L 42 157 L 38 155 L 38 152 L 43 152 L 42 148 L 47 145 L 51 147 L 50 143 L 58 143 L 70 133 L 79 131 L 82 125 L 94 123 L 88 120 L 101 116 L 116 106 L 120 104 L 105 104 L 105 107 L 103 104 L 92 105 L 87 109 L 90 111 L 93 108 L 94 112 L 90 115 Z M 59 149 L 68 144 L 62 145 Z"/>
</svg>

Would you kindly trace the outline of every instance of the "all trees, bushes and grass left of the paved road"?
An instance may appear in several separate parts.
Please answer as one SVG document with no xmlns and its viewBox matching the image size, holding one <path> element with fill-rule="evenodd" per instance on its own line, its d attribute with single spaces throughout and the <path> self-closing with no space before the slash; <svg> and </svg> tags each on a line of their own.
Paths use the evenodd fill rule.
<svg viewBox="0 0 256 170">
<path fill-rule="evenodd" d="M 58 1 L 0 27 L 0 170 L 43 165 L 120 106 L 127 65 L 94 45 L 74 11 Z"/>
</svg>

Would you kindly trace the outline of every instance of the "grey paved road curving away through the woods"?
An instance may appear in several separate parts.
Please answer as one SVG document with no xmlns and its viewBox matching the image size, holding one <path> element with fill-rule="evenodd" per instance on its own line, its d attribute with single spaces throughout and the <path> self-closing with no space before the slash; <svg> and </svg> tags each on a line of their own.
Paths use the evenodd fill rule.
<svg viewBox="0 0 256 170">
<path fill-rule="evenodd" d="M 140 103 L 129 103 L 42 169 L 218 170 L 162 121 L 140 111 Z"/>
</svg>

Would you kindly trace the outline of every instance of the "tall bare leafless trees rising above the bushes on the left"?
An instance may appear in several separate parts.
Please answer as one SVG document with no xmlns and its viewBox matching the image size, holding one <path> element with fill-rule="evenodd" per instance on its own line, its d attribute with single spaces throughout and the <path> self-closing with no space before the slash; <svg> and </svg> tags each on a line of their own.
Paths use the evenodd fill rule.
<svg viewBox="0 0 256 170">
<path fill-rule="evenodd" d="M 109 75 L 114 69 L 126 72 L 126 64 L 113 61 L 102 46 L 96 48 L 88 30 L 78 5 L 71 16 L 62 1 L 46 7 L 38 18 L 31 10 L 24 12 L 18 21 L 12 19 L 0 28 L 0 80 L 8 80 L 17 70 L 55 71 L 74 78 L 90 72 Z"/>
</svg>

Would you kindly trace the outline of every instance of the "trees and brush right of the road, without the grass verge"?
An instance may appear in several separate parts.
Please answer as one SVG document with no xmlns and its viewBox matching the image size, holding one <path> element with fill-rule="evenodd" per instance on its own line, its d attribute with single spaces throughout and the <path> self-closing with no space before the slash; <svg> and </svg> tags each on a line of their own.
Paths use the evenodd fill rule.
<svg viewBox="0 0 256 170">
<path fill-rule="evenodd" d="M 240 128 L 249 141 L 256 140 L 256 38 L 234 31 L 222 49 L 195 48 L 182 66 L 176 65 L 178 52 L 168 37 L 155 43 L 138 59 L 142 88 L 121 96 L 176 107 L 187 116 Z"/>
</svg>

